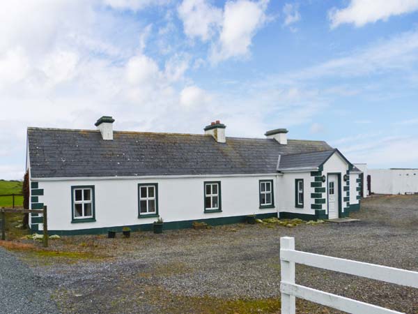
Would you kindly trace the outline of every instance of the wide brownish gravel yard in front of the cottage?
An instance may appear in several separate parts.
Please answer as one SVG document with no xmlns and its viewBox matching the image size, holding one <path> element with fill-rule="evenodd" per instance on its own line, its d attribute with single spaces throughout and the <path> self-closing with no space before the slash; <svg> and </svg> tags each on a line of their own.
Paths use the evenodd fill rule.
<svg viewBox="0 0 418 314">
<path fill-rule="evenodd" d="M 20 256 L 55 290 L 62 313 L 279 313 L 280 237 L 295 237 L 301 251 L 418 271 L 417 195 L 373 197 L 352 217 L 361 221 L 64 237 L 51 249 L 94 258 Z M 414 289 L 302 265 L 296 281 L 418 313 Z M 297 313 L 340 312 L 298 301 Z"/>
</svg>

